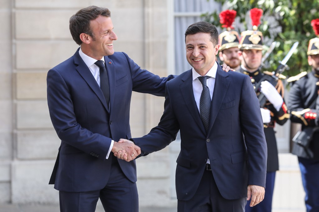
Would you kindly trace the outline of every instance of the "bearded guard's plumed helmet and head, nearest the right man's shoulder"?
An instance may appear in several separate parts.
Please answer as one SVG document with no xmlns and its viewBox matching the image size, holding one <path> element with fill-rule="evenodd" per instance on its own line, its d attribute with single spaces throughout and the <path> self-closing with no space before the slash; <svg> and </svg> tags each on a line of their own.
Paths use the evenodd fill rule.
<svg viewBox="0 0 319 212">
<path fill-rule="evenodd" d="M 225 32 L 219 34 L 219 59 L 230 68 L 238 71 L 240 68 L 240 60 L 238 57 L 238 32 L 234 29 L 233 22 L 236 17 L 236 11 L 225 10 L 219 14 L 222 27 L 226 28 Z"/>
</svg>

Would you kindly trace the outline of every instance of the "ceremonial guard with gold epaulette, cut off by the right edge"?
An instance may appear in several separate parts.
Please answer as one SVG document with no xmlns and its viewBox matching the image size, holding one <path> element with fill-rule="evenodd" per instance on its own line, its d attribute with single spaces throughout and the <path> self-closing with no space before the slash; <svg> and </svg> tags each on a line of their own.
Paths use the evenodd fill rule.
<svg viewBox="0 0 319 212">
<path fill-rule="evenodd" d="M 319 35 L 319 19 L 311 21 L 315 34 Z M 303 187 L 306 192 L 307 212 L 319 211 L 319 38 L 310 39 L 308 46 L 310 72 L 302 72 L 288 78 L 293 82 L 288 106 L 291 121 L 301 124 L 301 131 L 293 138 L 292 153 L 298 156 Z"/>
</svg>

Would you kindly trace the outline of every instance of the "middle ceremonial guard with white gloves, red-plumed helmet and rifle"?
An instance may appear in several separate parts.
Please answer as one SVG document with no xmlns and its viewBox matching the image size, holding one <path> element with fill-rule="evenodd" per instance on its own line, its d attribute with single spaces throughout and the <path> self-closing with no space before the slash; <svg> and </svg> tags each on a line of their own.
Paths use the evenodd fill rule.
<svg viewBox="0 0 319 212">
<path fill-rule="evenodd" d="M 275 175 L 276 171 L 279 169 L 274 126 L 275 123 L 280 125 L 285 124 L 289 118 L 289 113 L 283 99 L 284 86 L 282 81 L 279 79 L 277 82 L 273 82 L 275 84 L 275 86 L 273 86 L 269 81 L 264 81 L 265 75 L 271 75 L 272 73 L 262 72 L 260 70 L 263 56 L 263 34 L 262 32 L 257 31 L 257 26 L 260 24 L 259 20 L 262 13 L 263 11 L 261 9 L 254 8 L 250 10 L 253 30 L 241 33 L 241 41 L 239 44 L 240 51 L 238 52 L 241 60 L 241 68 L 239 71 L 243 74 L 249 75 L 251 82 L 255 87 L 256 94 L 260 95 L 262 93 L 266 98 L 266 103 L 260 106 L 268 148 L 265 198 L 261 203 L 254 207 L 249 207 L 248 201 L 246 205 L 246 212 L 271 212 Z"/>
</svg>

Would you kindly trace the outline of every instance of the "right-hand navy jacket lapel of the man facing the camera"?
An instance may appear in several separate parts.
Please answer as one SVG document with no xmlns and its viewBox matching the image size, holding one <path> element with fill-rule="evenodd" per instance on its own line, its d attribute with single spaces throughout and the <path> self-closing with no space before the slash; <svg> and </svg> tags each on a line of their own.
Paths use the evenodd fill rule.
<svg viewBox="0 0 319 212">
<path fill-rule="evenodd" d="M 227 72 L 223 71 L 220 66 L 217 68 L 213 98 L 211 100 L 211 115 L 209 119 L 208 133 L 215 122 L 219 108 L 225 98 L 230 81 L 227 79 Z"/>
</svg>

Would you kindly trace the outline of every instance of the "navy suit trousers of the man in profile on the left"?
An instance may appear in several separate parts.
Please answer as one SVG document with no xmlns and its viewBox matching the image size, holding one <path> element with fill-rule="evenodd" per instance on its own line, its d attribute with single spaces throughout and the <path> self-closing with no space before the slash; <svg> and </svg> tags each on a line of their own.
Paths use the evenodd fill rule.
<svg viewBox="0 0 319 212">
<path fill-rule="evenodd" d="M 112 159 L 112 166 L 107 185 L 97 191 L 59 191 L 61 212 L 94 212 L 99 198 L 106 212 L 138 212 L 136 183 L 127 179 L 117 158 L 110 155 L 109 159 Z"/>
</svg>

